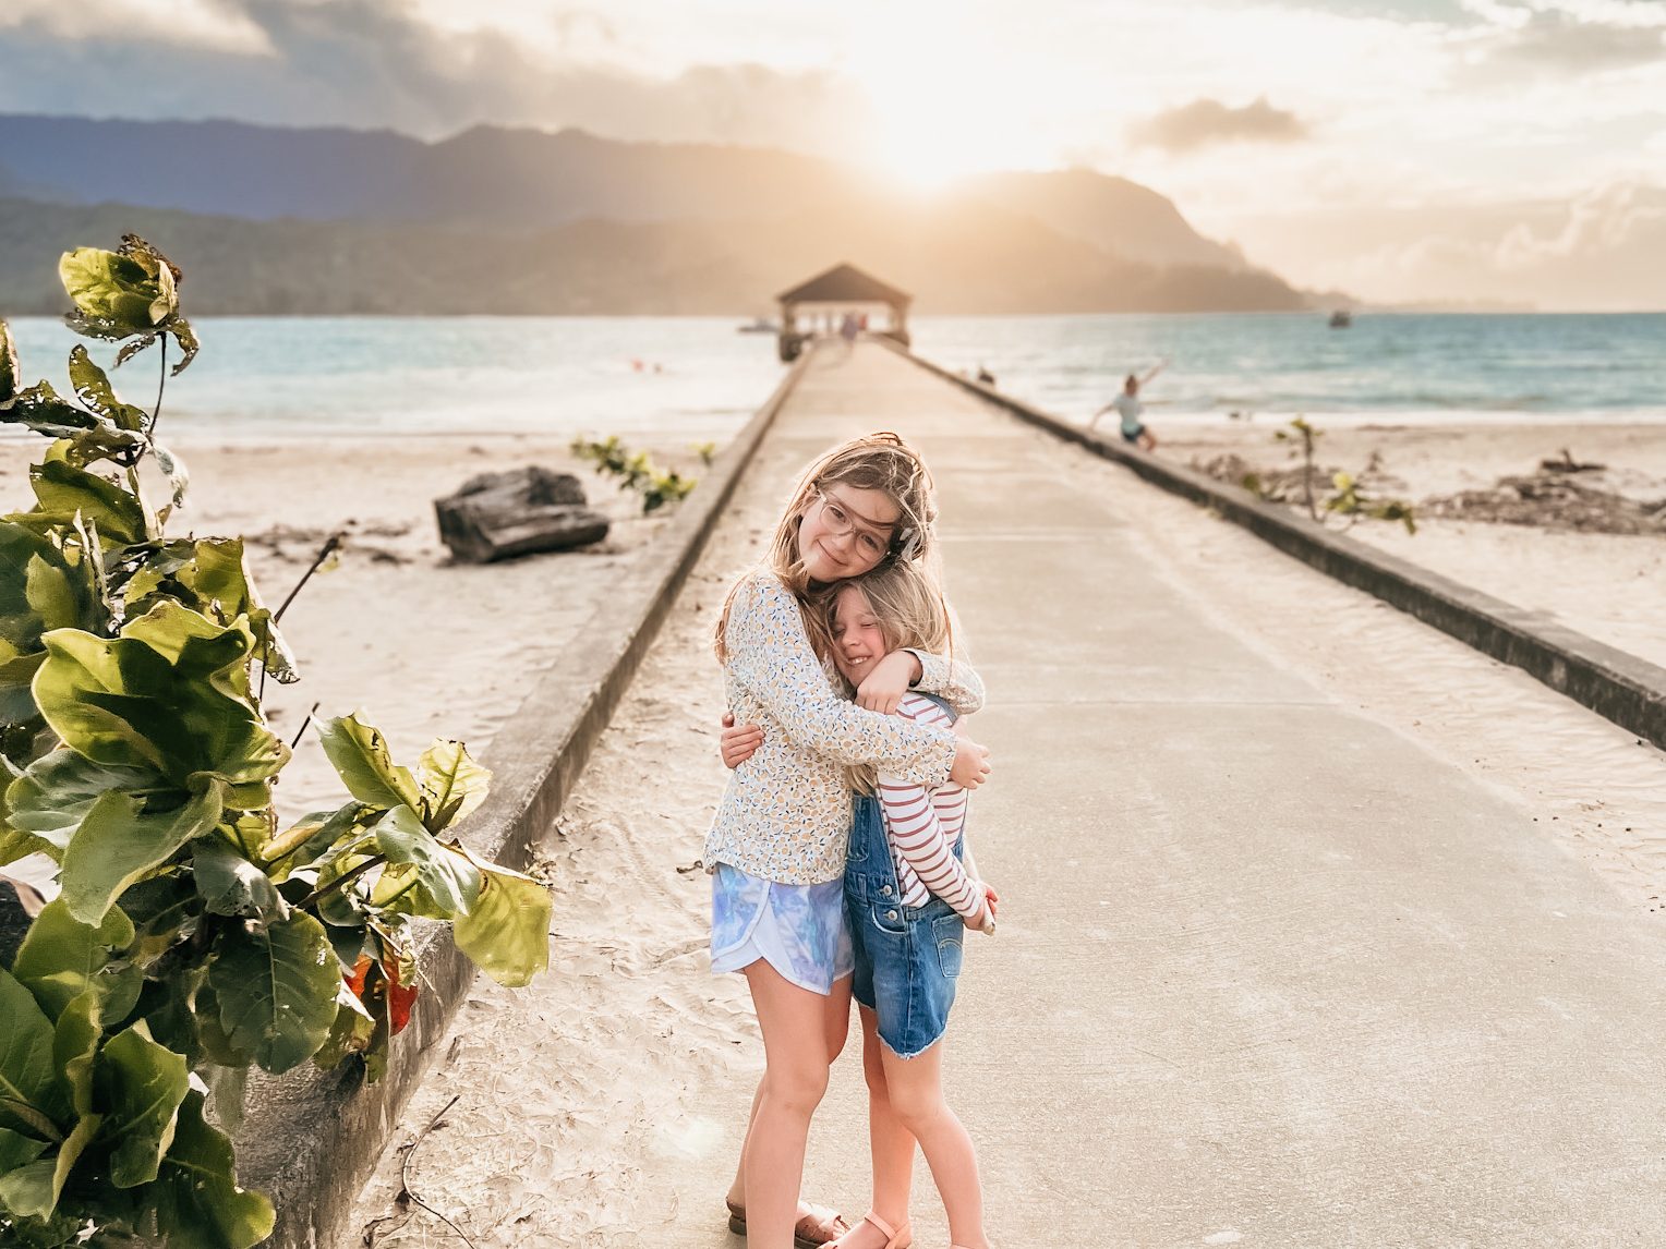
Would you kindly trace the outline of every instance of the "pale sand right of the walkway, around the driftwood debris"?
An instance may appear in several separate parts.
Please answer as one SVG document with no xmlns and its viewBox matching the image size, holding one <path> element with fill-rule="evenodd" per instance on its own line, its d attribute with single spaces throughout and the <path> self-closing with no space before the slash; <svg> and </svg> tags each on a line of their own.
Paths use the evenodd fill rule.
<svg viewBox="0 0 1666 1249">
<path fill-rule="evenodd" d="M 1294 450 L 1274 440 L 1274 428 L 1271 421 L 1175 425 L 1160 430 L 1160 455 L 1203 465 L 1235 453 L 1258 468 L 1289 466 Z M 1374 453 L 1379 493 L 1426 505 L 1533 473 L 1564 448 L 1578 461 L 1608 465 L 1578 475 L 1581 485 L 1666 500 L 1663 425 L 1338 426 L 1324 431 L 1318 460 L 1358 471 Z M 1658 535 L 1579 533 L 1419 515 L 1416 535 L 1386 521 L 1361 521 L 1351 535 L 1666 666 L 1666 526 Z"/>
</svg>

